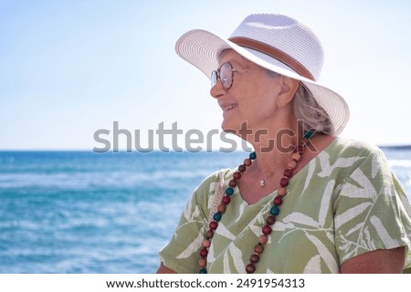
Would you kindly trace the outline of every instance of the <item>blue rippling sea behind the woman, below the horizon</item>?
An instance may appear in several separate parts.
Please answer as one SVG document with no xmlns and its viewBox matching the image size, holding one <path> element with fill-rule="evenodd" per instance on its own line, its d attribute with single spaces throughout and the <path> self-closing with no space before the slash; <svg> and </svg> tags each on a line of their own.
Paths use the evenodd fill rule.
<svg viewBox="0 0 411 292">
<path fill-rule="evenodd" d="M 383 150 L 410 196 L 411 149 Z M 196 185 L 245 157 L 0 151 L 0 273 L 153 273 Z"/>
</svg>

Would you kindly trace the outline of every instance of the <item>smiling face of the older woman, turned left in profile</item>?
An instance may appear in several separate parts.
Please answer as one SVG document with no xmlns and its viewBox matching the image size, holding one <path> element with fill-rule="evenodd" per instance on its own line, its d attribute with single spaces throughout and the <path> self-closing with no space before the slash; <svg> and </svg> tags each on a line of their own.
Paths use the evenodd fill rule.
<svg viewBox="0 0 411 292">
<path fill-rule="evenodd" d="M 261 130 L 272 125 L 276 114 L 275 100 L 280 90 L 277 77 L 234 50 L 223 53 L 218 68 L 227 62 L 234 70 L 231 88 L 225 89 L 218 79 L 210 90 L 223 110 L 222 129 L 238 135 L 238 130 Z"/>
</svg>

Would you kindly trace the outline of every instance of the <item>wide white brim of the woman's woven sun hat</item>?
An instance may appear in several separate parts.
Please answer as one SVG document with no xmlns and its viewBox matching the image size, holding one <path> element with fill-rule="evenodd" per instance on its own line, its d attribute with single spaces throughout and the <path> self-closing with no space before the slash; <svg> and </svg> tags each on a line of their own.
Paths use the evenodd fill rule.
<svg viewBox="0 0 411 292">
<path fill-rule="evenodd" d="M 218 67 L 218 58 L 221 53 L 229 48 L 262 68 L 300 80 L 311 91 L 313 98 L 321 108 L 327 111 L 332 120 L 334 135 L 338 135 L 343 130 L 349 120 L 350 110 L 342 96 L 316 81 L 300 76 L 278 59 L 250 48 L 237 46 L 229 40 L 202 29 L 186 32 L 175 44 L 178 56 L 200 69 L 207 78 L 210 78 L 211 72 Z"/>
</svg>

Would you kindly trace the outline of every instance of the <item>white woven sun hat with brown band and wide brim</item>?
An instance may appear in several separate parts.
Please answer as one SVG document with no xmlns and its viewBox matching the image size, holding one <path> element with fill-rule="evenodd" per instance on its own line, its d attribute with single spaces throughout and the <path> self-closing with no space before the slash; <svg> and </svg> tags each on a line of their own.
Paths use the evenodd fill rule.
<svg viewBox="0 0 411 292">
<path fill-rule="evenodd" d="M 345 127 L 350 111 L 342 97 L 321 86 L 323 50 L 310 28 L 289 16 L 256 14 L 246 17 L 226 40 L 208 31 L 195 29 L 175 44 L 177 54 L 210 78 L 218 66 L 218 57 L 227 48 L 251 62 L 281 75 L 300 80 L 314 99 L 326 110 L 338 135 Z"/>
</svg>

